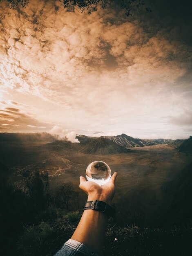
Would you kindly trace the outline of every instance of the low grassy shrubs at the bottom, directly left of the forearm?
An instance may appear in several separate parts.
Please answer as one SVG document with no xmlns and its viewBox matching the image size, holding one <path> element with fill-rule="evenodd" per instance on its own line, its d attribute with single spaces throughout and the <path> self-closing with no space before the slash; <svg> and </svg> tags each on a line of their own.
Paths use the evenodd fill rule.
<svg viewBox="0 0 192 256">
<path fill-rule="evenodd" d="M 76 225 L 61 218 L 51 224 L 40 222 L 37 226 L 25 227 L 18 239 L 19 255 L 53 256 L 71 238 L 75 229 Z"/>
</svg>

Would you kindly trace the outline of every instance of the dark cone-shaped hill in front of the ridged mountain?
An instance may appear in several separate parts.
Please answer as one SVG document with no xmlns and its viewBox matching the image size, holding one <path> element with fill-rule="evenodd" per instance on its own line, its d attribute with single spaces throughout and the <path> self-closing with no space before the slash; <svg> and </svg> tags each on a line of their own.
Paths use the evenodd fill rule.
<svg viewBox="0 0 192 256">
<path fill-rule="evenodd" d="M 84 146 L 80 152 L 84 154 L 110 155 L 130 153 L 131 150 L 116 144 L 110 139 L 99 137 Z"/>
</svg>

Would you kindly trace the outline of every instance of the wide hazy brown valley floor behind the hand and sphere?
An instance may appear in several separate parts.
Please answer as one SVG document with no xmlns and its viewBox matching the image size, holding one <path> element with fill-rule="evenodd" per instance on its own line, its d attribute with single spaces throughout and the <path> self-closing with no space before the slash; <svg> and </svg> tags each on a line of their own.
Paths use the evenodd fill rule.
<svg viewBox="0 0 192 256">
<path fill-rule="evenodd" d="M 112 173 L 118 172 L 114 204 L 121 215 L 119 224 L 122 216 L 126 216 L 128 223 L 146 226 L 155 225 L 166 208 L 163 184 L 173 180 L 191 161 L 191 155 L 178 152 L 167 144 L 134 147 L 126 153 L 108 155 L 81 153 L 82 147 L 80 143 L 69 141 L 1 141 L 0 162 L 7 166 L 14 183 L 20 183 L 23 170 L 44 169 L 49 172 L 53 191 L 60 183 L 72 182 L 80 192 L 82 207 L 86 195 L 79 189 L 79 176 L 85 177 L 89 163 L 104 161 Z"/>
</svg>

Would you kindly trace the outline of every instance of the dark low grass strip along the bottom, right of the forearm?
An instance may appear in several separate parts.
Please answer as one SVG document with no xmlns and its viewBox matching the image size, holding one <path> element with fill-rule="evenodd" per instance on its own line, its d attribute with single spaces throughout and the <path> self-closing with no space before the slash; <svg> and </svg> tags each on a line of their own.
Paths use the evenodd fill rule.
<svg viewBox="0 0 192 256">
<path fill-rule="evenodd" d="M 191 253 L 192 229 L 142 229 L 124 227 L 106 233 L 105 255 L 108 256 L 170 256 Z"/>
</svg>

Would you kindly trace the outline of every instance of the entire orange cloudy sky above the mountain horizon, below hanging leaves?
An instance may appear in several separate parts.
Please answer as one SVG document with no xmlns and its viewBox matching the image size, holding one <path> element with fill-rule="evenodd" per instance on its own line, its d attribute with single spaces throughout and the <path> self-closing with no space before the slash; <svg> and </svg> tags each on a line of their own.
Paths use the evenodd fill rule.
<svg viewBox="0 0 192 256">
<path fill-rule="evenodd" d="M 192 135 L 188 1 L 152 2 L 131 17 L 0 2 L 0 132 Z"/>
</svg>

